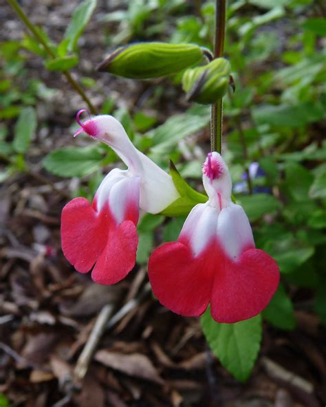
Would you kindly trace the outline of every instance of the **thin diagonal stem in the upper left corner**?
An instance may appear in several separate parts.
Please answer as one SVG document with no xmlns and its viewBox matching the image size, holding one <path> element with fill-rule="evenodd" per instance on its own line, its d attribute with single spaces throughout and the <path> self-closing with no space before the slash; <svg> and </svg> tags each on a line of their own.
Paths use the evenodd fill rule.
<svg viewBox="0 0 326 407">
<path fill-rule="evenodd" d="M 23 9 L 17 2 L 17 0 L 7 0 L 8 3 L 11 5 L 11 7 L 14 9 L 14 12 L 16 12 L 17 16 L 23 23 L 26 25 L 28 30 L 32 32 L 34 38 L 36 41 L 38 41 L 44 48 L 45 52 L 47 53 L 50 58 L 56 58 L 56 54 L 51 50 L 49 45 L 47 45 L 46 41 L 42 38 L 42 36 L 39 34 L 39 32 L 36 30 L 35 26 L 30 22 L 26 14 L 23 12 Z M 91 111 L 92 114 L 97 114 L 96 107 L 94 107 L 94 104 L 92 104 L 91 100 L 89 100 L 88 96 L 85 94 L 85 91 L 83 90 L 82 87 L 74 80 L 72 75 L 68 71 L 63 71 L 63 74 L 67 78 L 67 81 L 69 84 L 76 90 L 78 94 L 80 94 L 81 98 L 87 103 L 89 107 L 89 111 Z"/>
</svg>

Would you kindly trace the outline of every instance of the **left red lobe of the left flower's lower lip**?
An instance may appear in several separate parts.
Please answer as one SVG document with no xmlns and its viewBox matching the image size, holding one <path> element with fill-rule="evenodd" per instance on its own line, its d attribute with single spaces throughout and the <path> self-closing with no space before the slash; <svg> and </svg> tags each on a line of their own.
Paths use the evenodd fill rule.
<svg viewBox="0 0 326 407">
<path fill-rule="evenodd" d="M 87 273 L 107 243 L 110 217 L 108 211 L 99 214 L 85 198 L 75 198 L 61 214 L 63 254 L 80 273 Z"/>
</svg>

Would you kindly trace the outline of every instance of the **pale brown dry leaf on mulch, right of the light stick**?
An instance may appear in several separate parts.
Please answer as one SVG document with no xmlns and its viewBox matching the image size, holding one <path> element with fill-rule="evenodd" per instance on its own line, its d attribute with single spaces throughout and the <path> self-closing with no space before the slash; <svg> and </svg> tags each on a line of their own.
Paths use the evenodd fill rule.
<svg viewBox="0 0 326 407">
<path fill-rule="evenodd" d="M 105 364 L 105 366 L 126 373 L 127 375 L 150 380 L 158 384 L 164 383 L 149 358 L 140 353 L 124 355 L 122 353 L 102 350 L 96 353 L 95 359 Z"/>
</svg>

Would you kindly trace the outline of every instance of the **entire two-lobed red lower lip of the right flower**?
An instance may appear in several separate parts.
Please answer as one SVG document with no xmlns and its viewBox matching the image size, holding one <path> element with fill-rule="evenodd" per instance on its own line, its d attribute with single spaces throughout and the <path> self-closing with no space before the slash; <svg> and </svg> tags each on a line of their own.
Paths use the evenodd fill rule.
<svg viewBox="0 0 326 407">
<path fill-rule="evenodd" d="M 210 303 L 217 322 L 232 323 L 259 314 L 279 285 L 279 267 L 272 257 L 250 248 L 232 261 L 212 241 L 194 257 L 184 243 L 162 245 L 149 259 L 155 297 L 182 316 L 200 316 Z"/>
</svg>

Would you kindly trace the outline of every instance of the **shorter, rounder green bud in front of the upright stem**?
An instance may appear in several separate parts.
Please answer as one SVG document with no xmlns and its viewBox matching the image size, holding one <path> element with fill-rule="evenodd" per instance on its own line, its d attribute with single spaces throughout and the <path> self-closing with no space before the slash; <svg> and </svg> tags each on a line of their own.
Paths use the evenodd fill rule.
<svg viewBox="0 0 326 407">
<path fill-rule="evenodd" d="M 186 69 L 182 87 L 188 100 L 214 104 L 223 98 L 230 83 L 231 65 L 225 58 L 216 58 L 207 65 Z"/>
</svg>

